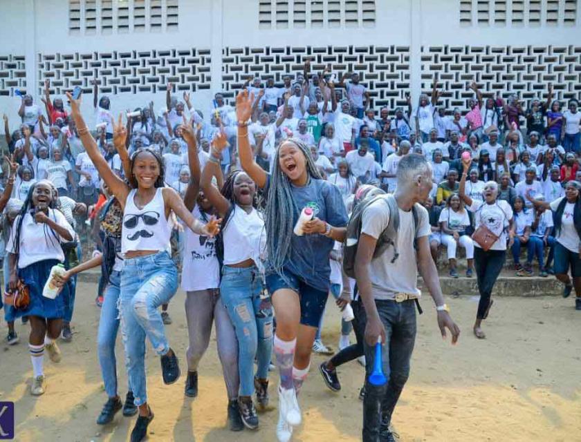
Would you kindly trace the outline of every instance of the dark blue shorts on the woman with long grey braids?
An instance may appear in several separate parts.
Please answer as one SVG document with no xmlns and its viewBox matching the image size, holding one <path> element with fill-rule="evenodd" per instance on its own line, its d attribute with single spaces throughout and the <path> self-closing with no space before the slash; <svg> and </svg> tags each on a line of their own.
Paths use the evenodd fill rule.
<svg viewBox="0 0 581 442">
<path fill-rule="evenodd" d="M 329 292 L 315 289 L 315 287 L 308 285 L 295 273 L 291 273 L 286 269 L 283 269 L 283 273 L 285 278 L 282 278 L 278 273 L 266 274 L 268 293 L 272 296 L 279 289 L 296 291 L 301 302 L 301 324 L 319 327 L 319 321 L 323 315 Z"/>
</svg>

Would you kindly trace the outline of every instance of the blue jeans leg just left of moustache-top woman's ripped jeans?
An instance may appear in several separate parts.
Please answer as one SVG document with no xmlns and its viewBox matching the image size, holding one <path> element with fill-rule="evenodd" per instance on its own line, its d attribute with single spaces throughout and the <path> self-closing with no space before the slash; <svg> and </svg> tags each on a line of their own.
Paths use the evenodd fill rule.
<svg viewBox="0 0 581 442">
<path fill-rule="evenodd" d="M 117 396 L 117 360 L 115 357 L 115 341 L 119 329 L 118 299 L 120 292 L 121 272 L 112 271 L 109 276 L 109 284 L 105 289 L 101 317 L 99 319 L 99 331 L 97 334 L 97 349 L 99 364 L 101 365 L 101 377 L 105 385 L 107 396 Z M 131 390 L 131 389 L 130 389 Z"/>
</svg>

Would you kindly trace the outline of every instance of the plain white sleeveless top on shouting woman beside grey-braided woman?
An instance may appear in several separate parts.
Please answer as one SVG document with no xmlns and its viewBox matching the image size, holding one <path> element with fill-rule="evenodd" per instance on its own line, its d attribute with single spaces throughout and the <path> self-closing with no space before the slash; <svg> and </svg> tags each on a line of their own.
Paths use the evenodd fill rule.
<svg viewBox="0 0 581 442">
<path fill-rule="evenodd" d="M 266 230 L 262 215 L 254 208 L 246 213 L 234 205 L 223 232 L 224 264 L 232 265 L 252 258 L 259 269 L 266 251 Z"/>
</svg>

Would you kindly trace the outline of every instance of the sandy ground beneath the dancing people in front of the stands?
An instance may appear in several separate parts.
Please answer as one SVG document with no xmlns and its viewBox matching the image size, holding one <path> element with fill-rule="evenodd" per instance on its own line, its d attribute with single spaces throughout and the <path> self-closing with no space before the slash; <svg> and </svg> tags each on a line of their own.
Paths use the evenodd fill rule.
<svg viewBox="0 0 581 442">
<path fill-rule="evenodd" d="M 45 358 L 48 387 L 44 396 L 30 396 L 27 328 L 17 324 L 19 345 L 1 345 L 0 401 L 16 402 L 16 440 L 128 439 L 133 419 L 120 413 L 111 425 L 95 424 L 106 397 L 95 353 L 99 309 L 93 303 L 94 293 L 95 285 L 80 284 L 73 342 L 60 344 L 61 363 Z M 167 330 L 185 372 L 183 300 L 179 292 L 170 305 L 174 323 Z M 573 309 L 571 299 L 497 298 L 486 322 L 488 338 L 483 341 L 471 333 L 476 298 L 448 298 L 447 302 L 463 334 L 455 347 L 443 342 L 431 300 L 424 300 L 412 374 L 394 415 L 400 441 L 580 441 L 581 312 Z M 323 338 L 336 347 L 340 316 L 333 305 L 328 310 Z M 120 338 L 118 359 L 122 361 Z M 304 424 L 293 440 L 360 440 L 358 392 L 363 369 L 356 362 L 340 367 L 342 391 L 333 393 L 316 369 L 323 359 L 313 358 L 300 398 Z M 127 381 L 122 365 L 118 367 L 124 395 Z M 149 427 L 150 441 L 275 440 L 276 410 L 261 414 L 258 432 L 225 430 L 227 401 L 214 338 L 199 372 L 198 398 L 185 398 L 184 377 L 174 385 L 163 385 L 158 358 L 148 351 L 149 400 L 156 414 Z M 276 383 L 273 374 L 273 405 L 277 404 Z"/>
</svg>

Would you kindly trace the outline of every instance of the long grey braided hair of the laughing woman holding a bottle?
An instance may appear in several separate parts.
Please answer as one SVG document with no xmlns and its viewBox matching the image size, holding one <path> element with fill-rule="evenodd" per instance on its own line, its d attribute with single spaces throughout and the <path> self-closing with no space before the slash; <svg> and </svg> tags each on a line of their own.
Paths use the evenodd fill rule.
<svg viewBox="0 0 581 442">
<path fill-rule="evenodd" d="M 268 248 L 269 267 L 276 271 L 281 278 L 285 279 L 282 266 L 291 249 L 291 238 L 293 236 L 293 223 L 295 214 L 301 209 L 297 207 L 295 198 L 291 191 L 291 180 L 280 168 L 279 153 L 282 144 L 295 144 L 302 152 L 306 160 L 306 173 L 309 180 L 315 178 L 322 179 L 319 169 L 311 156 L 311 149 L 297 138 L 290 138 L 283 141 L 275 153 L 273 160 L 273 174 L 270 175 L 270 185 L 266 200 L 266 247 Z"/>
</svg>

